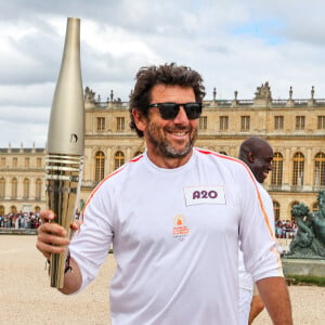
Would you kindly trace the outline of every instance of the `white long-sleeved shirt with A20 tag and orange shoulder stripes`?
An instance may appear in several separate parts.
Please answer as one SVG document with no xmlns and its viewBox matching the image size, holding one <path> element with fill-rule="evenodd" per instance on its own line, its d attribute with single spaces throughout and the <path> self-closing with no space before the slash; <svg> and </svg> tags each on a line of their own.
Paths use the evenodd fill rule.
<svg viewBox="0 0 325 325">
<path fill-rule="evenodd" d="M 164 169 L 145 153 L 90 195 L 70 253 L 83 288 L 113 243 L 113 325 L 238 324 L 239 239 L 255 281 L 283 276 L 264 218 L 240 160 L 195 148 Z"/>
</svg>

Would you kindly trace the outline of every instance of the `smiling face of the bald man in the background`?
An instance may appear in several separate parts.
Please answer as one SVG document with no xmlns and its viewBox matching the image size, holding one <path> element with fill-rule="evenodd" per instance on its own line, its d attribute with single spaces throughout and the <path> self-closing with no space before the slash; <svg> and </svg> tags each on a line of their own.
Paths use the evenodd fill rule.
<svg viewBox="0 0 325 325">
<path fill-rule="evenodd" d="M 269 145 L 262 146 L 258 153 L 253 154 L 253 161 L 250 169 L 259 183 L 263 183 L 272 170 L 273 151 Z"/>
</svg>

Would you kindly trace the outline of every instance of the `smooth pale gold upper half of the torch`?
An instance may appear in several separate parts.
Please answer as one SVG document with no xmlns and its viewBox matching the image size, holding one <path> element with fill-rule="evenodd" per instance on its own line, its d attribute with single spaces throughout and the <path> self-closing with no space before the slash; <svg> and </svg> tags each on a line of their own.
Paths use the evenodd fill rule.
<svg viewBox="0 0 325 325">
<path fill-rule="evenodd" d="M 68 17 L 61 69 L 51 107 L 48 153 L 83 155 L 83 133 L 80 20 Z"/>
</svg>

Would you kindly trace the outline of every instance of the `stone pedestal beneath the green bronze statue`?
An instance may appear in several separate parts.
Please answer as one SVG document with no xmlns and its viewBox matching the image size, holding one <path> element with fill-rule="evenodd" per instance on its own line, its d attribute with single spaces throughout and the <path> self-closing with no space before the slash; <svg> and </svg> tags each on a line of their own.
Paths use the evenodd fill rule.
<svg viewBox="0 0 325 325">
<path fill-rule="evenodd" d="M 325 277 L 325 259 L 282 258 L 284 274 Z"/>
</svg>

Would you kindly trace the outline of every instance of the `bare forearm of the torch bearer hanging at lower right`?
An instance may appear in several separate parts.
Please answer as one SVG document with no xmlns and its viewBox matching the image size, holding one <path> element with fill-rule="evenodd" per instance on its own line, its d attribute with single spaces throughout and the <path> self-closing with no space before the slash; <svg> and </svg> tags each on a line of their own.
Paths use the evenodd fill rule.
<svg viewBox="0 0 325 325">
<path fill-rule="evenodd" d="M 285 278 L 280 276 L 262 278 L 257 282 L 257 286 L 273 324 L 291 325 L 291 303 Z"/>
</svg>

